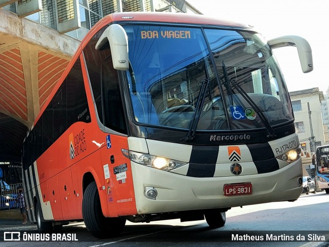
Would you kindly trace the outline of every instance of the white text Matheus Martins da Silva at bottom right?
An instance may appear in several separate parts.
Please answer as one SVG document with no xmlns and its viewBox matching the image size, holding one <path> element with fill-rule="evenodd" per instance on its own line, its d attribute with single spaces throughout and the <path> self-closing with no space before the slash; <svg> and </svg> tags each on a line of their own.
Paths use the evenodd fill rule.
<svg viewBox="0 0 329 247">
<path fill-rule="evenodd" d="M 249 234 L 232 234 L 232 241 L 325 241 L 324 235 L 318 234 L 266 234 L 266 235 L 249 235 Z"/>
</svg>

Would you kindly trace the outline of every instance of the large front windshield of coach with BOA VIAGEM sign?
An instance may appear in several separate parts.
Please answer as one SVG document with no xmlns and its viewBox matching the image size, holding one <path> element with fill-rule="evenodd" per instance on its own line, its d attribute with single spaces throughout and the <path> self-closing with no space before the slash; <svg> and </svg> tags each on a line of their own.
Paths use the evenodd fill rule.
<svg viewBox="0 0 329 247">
<path fill-rule="evenodd" d="M 258 33 L 123 27 L 139 124 L 189 129 L 197 116 L 196 130 L 230 130 L 293 119 L 281 71 Z"/>
</svg>

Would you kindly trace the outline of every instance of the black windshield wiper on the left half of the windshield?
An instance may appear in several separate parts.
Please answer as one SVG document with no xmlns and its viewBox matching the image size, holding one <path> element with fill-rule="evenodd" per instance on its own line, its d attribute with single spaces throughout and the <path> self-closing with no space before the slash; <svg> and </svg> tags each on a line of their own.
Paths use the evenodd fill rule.
<svg viewBox="0 0 329 247">
<path fill-rule="evenodd" d="M 196 131 L 199 119 L 200 119 L 200 114 L 201 114 L 202 107 L 204 105 L 205 96 L 206 96 L 209 81 L 210 81 L 209 79 L 204 79 L 203 81 L 201 81 L 202 82 L 201 89 L 199 91 L 199 95 L 198 95 L 198 98 L 197 98 L 195 112 L 194 112 L 194 115 L 193 115 L 193 119 L 192 119 L 192 123 L 190 125 L 189 132 L 188 132 L 187 136 L 185 138 L 181 139 L 181 140 L 193 140 L 194 137 L 195 137 L 195 131 Z"/>
</svg>

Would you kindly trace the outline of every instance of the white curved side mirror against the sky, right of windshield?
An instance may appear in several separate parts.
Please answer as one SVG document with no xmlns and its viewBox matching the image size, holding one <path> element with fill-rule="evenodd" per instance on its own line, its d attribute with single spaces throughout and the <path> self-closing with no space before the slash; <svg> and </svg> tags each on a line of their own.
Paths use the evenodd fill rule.
<svg viewBox="0 0 329 247">
<path fill-rule="evenodd" d="M 268 45 L 271 49 L 285 47 L 285 46 L 295 46 L 297 47 L 299 61 L 302 66 L 304 73 L 310 72 L 313 70 L 313 58 L 312 58 L 312 49 L 308 42 L 300 36 L 282 36 L 277 37 L 276 39 L 269 40 Z"/>
</svg>

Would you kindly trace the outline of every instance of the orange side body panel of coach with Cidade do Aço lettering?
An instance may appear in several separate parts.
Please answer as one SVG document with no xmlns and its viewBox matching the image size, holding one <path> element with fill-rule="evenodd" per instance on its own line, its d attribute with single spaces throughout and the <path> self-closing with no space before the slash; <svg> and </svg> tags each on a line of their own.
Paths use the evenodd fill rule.
<svg viewBox="0 0 329 247">
<path fill-rule="evenodd" d="M 82 61 L 92 122 L 71 125 L 37 160 L 41 192 L 45 195 L 43 202 L 50 203 L 55 221 L 82 219 L 83 176 L 91 173 L 98 187 L 105 217 L 134 215 L 137 211 L 131 164 L 121 151 L 128 148 L 127 137 L 109 135 L 100 130 L 82 58 L 80 56 L 78 59 Z M 111 138 L 109 148 L 106 145 L 107 136 Z M 70 143 L 75 150 L 73 159 L 70 158 Z M 114 157 L 112 163 L 111 156 Z M 108 167 L 107 175 L 104 165 Z M 124 171 L 115 174 L 114 167 L 120 165 L 124 166 Z"/>
</svg>

